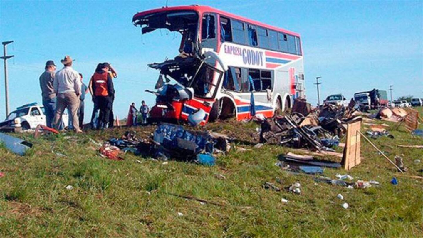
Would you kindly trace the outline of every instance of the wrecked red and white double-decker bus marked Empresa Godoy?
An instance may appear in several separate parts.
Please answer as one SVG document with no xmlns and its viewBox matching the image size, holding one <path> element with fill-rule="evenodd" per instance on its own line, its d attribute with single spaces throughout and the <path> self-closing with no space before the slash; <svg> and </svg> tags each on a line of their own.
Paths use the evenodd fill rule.
<svg viewBox="0 0 423 238">
<path fill-rule="evenodd" d="M 305 97 L 298 33 L 198 5 L 139 12 L 132 22 L 143 34 L 163 28 L 181 33 L 178 56 L 149 64 L 160 70 L 152 120 L 187 120 L 198 111 L 202 123 L 242 120 L 252 109 L 271 117 Z"/>
</svg>

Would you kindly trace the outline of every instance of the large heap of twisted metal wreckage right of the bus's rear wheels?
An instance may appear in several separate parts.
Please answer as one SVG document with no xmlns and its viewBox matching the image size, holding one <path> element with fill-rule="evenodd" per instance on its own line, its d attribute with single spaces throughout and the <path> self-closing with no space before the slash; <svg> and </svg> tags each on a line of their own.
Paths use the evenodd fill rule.
<svg viewBox="0 0 423 238">
<path fill-rule="evenodd" d="M 304 100 L 296 100 L 293 108 L 291 115 L 276 115 L 261 122 L 261 143 L 331 151 L 346 133 L 344 124 L 361 118 L 353 106 L 325 104 L 311 110 Z"/>
</svg>

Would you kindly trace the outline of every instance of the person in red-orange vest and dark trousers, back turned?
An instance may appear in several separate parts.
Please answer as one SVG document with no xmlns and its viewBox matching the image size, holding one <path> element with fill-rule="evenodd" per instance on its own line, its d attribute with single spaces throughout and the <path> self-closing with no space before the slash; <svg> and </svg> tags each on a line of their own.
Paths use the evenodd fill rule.
<svg viewBox="0 0 423 238">
<path fill-rule="evenodd" d="M 94 104 L 100 109 L 99 124 L 97 129 L 104 129 L 110 118 L 113 99 L 115 98 L 115 89 L 113 88 L 112 77 L 109 74 L 109 65 L 102 64 L 97 67 L 96 72 L 91 77 L 92 90 L 94 94 Z"/>
</svg>

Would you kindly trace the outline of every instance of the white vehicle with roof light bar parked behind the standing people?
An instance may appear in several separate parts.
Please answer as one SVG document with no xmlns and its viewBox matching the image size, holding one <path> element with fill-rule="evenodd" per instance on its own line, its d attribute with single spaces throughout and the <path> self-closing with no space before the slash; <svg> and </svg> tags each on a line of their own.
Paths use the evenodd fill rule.
<svg viewBox="0 0 423 238">
<path fill-rule="evenodd" d="M 62 120 L 66 127 L 68 125 L 66 110 L 63 113 Z M 19 132 L 35 129 L 39 124 L 46 125 L 44 107 L 34 102 L 20 106 L 15 111 L 9 113 L 7 118 L 3 122 L 0 122 L 0 130 Z"/>
</svg>

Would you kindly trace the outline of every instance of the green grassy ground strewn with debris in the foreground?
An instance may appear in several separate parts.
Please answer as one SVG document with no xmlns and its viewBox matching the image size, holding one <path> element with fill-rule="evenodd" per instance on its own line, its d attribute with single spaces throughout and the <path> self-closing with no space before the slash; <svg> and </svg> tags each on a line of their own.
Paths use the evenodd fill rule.
<svg viewBox="0 0 423 238">
<path fill-rule="evenodd" d="M 419 109 L 423 114 L 422 108 Z M 380 122 L 382 123 L 382 122 Z M 392 123 L 388 123 L 393 125 Z M 422 126 L 420 125 L 420 128 Z M 213 124 L 246 141 L 255 125 Z M 152 128 L 137 128 L 148 134 Z M 364 131 L 364 129 L 363 129 Z M 363 180 L 377 180 L 380 187 L 347 189 L 315 183 L 308 175 L 281 171 L 274 163 L 289 149 L 265 145 L 251 151 L 231 151 L 218 165 L 204 167 L 192 163 L 144 160 L 125 155 L 124 161 L 101 158 L 88 138 L 98 141 L 121 135 L 124 129 L 90 132 L 72 138 L 47 136 L 34 139 L 35 146 L 19 157 L 0 148 L 0 235 L 7 236 L 326 236 L 326 237 L 417 237 L 423 232 L 423 180 L 397 177 L 393 166 L 367 143 L 362 143 L 362 164 L 349 174 Z M 407 174 L 423 168 L 422 149 L 404 149 L 396 144 L 423 144 L 403 127 L 391 131 L 395 139 L 373 140 L 382 150 L 404 155 Z M 69 135 L 68 135 L 69 136 Z M 66 157 L 52 153 L 60 152 Z M 143 161 L 136 163 L 136 160 Z M 332 158 L 333 159 L 333 158 Z M 413 161 L 420 159 L 422 163 Z M 325 169 L 334 177 L 345 173 Z M 225 175 L 225 180 L 215 177 Z M 276 182 L 280 178 L 282 184 Z M 302 193 L 264 190 L 272 182 L 282 188 L 301 183 Z M 66 190 L 72 185 L 73 190 Z M 150 192 L 150 194 L 148 193 Z M 192 195 L 227 204 L 225 207 L 181 199 L 168 193 Z M 345 197 L 336 198 L 338 193 Z M 281 198 L 289 200 L 287 204 Z M 350 208 L 341 207 L 348 202 Z M 251 208 L 244 208 L 250 206 Z M 181 212 L 184 216 L 178 216 Z"/>
</svg>

